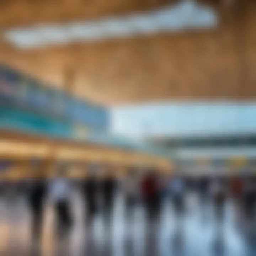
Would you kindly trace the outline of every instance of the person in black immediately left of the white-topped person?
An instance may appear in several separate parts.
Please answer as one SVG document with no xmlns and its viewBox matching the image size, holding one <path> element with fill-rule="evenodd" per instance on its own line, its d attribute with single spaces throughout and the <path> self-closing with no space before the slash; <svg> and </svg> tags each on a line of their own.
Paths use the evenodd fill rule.
<svg viewBox="0 0 256 256">
<path fill-rule="evenodd" d="M 33 180 L 28 200 L 32 213 L 32 233 L 36 239 L 41 235 L 45 196 L 46 182 L 43 177 L 37 177 Z"/>
</svg>

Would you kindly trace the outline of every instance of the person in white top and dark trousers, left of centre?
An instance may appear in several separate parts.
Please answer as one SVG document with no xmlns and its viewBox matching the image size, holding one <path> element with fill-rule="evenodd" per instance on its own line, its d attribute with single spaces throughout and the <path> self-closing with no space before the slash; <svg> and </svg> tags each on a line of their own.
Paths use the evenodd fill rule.
<svg viewBox="0 0 256 256">
<path fill-rule="evenodd" d="M 50 184 L 50 198 L 54 203 L 57 222 L 62 228 L 70 228 L 73 223 L 70 210 L 71 185 L 66 178 L 67 168 L 60 167 L 59 177 Z"/>
</svg>

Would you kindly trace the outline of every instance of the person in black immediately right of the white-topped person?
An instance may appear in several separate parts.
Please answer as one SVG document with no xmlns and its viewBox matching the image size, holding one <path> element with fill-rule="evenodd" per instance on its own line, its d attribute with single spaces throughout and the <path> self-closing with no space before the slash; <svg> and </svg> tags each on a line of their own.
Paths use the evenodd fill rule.
<svg viewBox="0 0 256 256">
<path fill-rule="evenodd" d="M 84 195 L 87 204 L 88 217 L 93 217 L 97 211 L 97 192 L 98 192 L 98 181 L 96 177 L 96 168 L 90 167 L 88 176 L 84 182 Z"/>
</svg>

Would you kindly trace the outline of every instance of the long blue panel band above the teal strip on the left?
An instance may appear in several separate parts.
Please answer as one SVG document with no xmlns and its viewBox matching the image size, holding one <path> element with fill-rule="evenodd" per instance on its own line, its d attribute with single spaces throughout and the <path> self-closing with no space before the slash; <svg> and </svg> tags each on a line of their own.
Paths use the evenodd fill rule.
<svg viewBox="0 0 256 256">
<path fill-rule="evenodd" d="M 21 103 L 28 111 L 64 117 L 91 129 L 108 129 L 109 117 L 105 108 L 75 99 L 4 66 L 0 66 L 0 101 Z"/>
</svg>

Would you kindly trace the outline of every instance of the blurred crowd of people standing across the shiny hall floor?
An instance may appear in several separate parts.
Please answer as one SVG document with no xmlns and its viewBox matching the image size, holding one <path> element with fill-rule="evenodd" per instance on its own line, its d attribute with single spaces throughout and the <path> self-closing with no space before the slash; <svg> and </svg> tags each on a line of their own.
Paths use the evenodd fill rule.
<svg viewBox="0 0 256 256">
<path fill-rule="evenodd" d="M 38 175 L 31 182 L 28 202 L 32 213 L 32 232 L 39 238 L 43 222 L 44 201 L 48 197 L 54 204 L 58 225 L 64 229 L 72 227 L 74 217 L 71 211 L 73 186 L 79 188 L 85 202 L 85 219 L 90 223 L 96 214 L 111 216 L 115 197 L 122 194 L 126 213 L 130 215 L 136 206 L 145 208 L 146 216 L 159 216 L 164 200 L 172 203 L 177 218 L 186 213 L 186 197 L 196 192 L 201 205 L 212 202 L 216 220 L 221 222 L 227 198 L 239 205 L 248 219 L 255 218 L 256 178 L 228 176 L 187 176 L 178 172 L 162 174 L 150 169 L 139 171 L 131 168 L 123 177 L 117 177 L 112 170 L 99 175 L 93 167 L 84 180 L 74 182 L 67 178 L 68 166 L 58 168 L 57 178 L 50 181 Z"/>
</svg>

